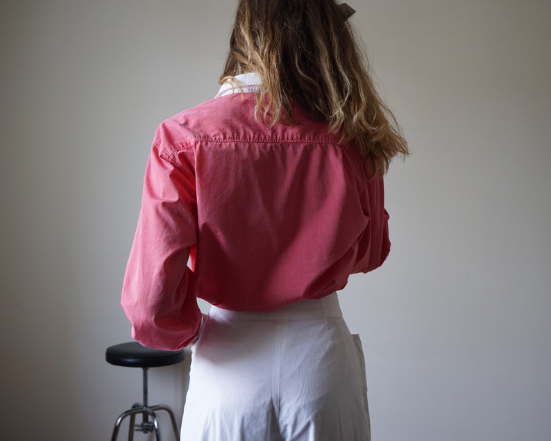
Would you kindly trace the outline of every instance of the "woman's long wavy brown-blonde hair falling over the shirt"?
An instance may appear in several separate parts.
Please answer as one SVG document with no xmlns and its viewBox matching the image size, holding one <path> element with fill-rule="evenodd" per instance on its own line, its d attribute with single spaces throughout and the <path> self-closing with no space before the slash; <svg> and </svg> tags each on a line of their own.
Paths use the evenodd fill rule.
<svg viewBox="0 0 551 441">
<path fill-rule="evenodd" d="M 255 115 L 270 125 L 294 123 L 291 100 L 328 123 L 341 142 L 386 173 L 396 155 L 409 154 L 391 110 L 368 74 L 348 16 L 334 0 L 239 0 L 220 83 L 256 72 L 262 85 Z"/>
</svg>

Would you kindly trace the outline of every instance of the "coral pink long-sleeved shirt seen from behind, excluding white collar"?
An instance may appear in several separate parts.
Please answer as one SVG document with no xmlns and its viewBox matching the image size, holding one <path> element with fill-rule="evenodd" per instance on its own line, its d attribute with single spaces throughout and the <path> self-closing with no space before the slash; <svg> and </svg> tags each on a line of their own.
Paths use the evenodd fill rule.
<svg viewBox="0 0 551 441">
<path fill-rule="evenodd" d="M 269 128 L 254 93 L 221 95 L 155 133 L 121 298 L 148 347 L 196 337 L 196 297 L 273 310 L 341 290 L 389 253 L 383 181 L 353 145 L 298 106 L 298 124 Z"/>
</svg>

